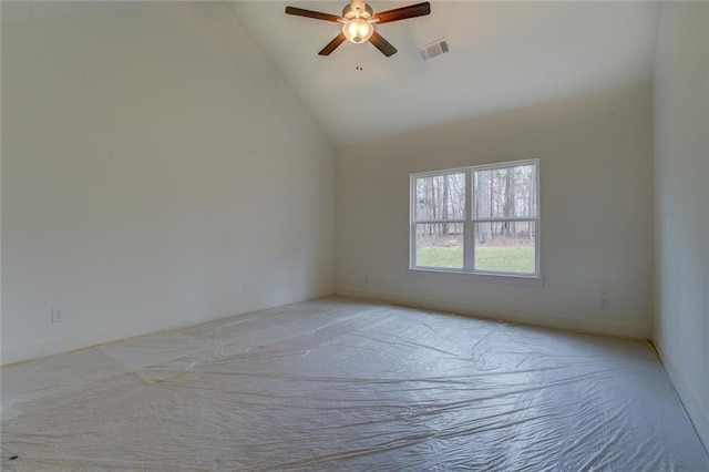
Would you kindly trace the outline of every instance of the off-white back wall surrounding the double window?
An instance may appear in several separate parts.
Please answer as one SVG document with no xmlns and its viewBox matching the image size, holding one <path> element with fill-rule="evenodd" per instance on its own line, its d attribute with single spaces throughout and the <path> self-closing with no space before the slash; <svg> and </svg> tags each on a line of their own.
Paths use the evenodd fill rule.
<svg viewBox="0 0 709 472">
<path fill-rule="evenodd" d="M 338 150 L 336 291 L 648 338 L 651 103 L 640 83 Z M 531 157 L 541 161 L 543 287 L 407 270 L 411 173 Z"/>
</svg>

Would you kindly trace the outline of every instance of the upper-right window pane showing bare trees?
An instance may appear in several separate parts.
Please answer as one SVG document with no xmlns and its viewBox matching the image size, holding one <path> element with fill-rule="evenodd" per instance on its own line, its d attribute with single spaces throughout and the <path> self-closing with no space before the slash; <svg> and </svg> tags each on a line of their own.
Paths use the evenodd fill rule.
<svg viewBox="0 0 709 472">
<path fill-rule="evenodd" d="M 536 165 L 476 171 L 475 218 L 536 216 Z"/>
</svg>

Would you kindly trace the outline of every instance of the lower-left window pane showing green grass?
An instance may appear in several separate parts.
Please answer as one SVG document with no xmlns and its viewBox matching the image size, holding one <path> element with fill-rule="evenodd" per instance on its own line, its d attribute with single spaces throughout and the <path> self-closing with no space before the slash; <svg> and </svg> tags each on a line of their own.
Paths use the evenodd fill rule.
<svg viewBox="0 0 709 472">
<path fill-rule="evenodd" d="M 417 225 L 417 266 L 463 268 L 463 224 Z"/>
</svg>

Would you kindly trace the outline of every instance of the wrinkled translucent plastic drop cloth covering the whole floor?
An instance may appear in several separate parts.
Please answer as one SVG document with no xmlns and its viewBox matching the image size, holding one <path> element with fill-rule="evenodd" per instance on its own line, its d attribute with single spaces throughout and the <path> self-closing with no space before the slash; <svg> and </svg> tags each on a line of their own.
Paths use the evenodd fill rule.
<svg viewBox="0 0 709 472">
<path fill-rule="evenodd" d="M 347 298 L 0 374 L 2 470 L 709 470 L 647 343 Z"/>
</svg>

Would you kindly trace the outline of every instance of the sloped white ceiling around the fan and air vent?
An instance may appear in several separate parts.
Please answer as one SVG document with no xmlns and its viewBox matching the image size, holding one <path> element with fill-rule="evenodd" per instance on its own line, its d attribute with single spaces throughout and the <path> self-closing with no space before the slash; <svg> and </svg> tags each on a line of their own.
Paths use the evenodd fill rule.
<svg viewBox="0 0 709 472">
<path fill-rule="evenodd" d="M 377 11 L 417 3 L 376 1 Z M 236 17 L 339 146 L 651 76 L 659 2 L 431 1 L 431 14 L 382 24 L 399 52 L 343 43 L 338 23 L 287 16 L 287 4 L 340 14 L 339 1 L 233 1 Z M 449 54 L 422 61 L 441 38 Z M 363 71 L 357 71 L 361 63 Z"/>
</svg>

